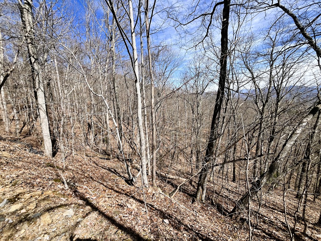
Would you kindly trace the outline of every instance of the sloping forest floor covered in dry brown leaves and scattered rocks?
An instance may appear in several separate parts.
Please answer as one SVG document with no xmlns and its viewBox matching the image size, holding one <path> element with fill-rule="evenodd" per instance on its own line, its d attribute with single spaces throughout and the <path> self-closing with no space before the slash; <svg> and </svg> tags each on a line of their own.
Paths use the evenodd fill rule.
<svg viewBox="0 0 321 241">
<path fill-rule="evenodd" d="M 209 202 L 192 203 L 190 184 L 170 199 L 172 183 L 158 179 L 158 188 L 142 189 L 140 181 L 131 186 L 121 161 L 86 151 L 66 158 L 66 189 L 59 154 L 40 156 L 9 141 L 0 141 L 0 149 L 1 241 L 248 240 L 247 222 L 221 215 Z M 225 192 L 220 195 L 227 199 L 235 193 Z M 288 240 L 282 192 L 267 198 L 254 240 Z M 314 206 L 309 233 L 299 239 L 321 240 L 321 229 L 313 226 L 320 202 Z"/>
</svg>

